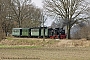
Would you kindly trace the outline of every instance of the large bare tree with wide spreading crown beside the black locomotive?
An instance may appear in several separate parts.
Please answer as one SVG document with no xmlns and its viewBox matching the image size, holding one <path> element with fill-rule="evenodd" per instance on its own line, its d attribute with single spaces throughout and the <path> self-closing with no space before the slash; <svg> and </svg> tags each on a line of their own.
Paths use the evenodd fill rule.
<svg viewBox="0 0 90 60">
<path fill-rule="evenodd" d="M 67 26 L 67 38 L 70 39 L 70 30 L 75 24 L 89 18 L 85 14 L 87 4 L 84 0 L 44 0 L 44 8 L 52 15 L 59 16 Z"/>
</svg>

